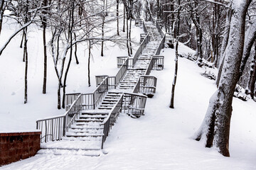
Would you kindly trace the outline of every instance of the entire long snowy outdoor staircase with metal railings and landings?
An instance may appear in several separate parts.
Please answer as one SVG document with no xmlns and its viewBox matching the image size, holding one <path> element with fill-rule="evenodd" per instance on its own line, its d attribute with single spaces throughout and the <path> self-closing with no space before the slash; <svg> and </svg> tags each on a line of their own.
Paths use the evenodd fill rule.
<svg viewBox="0 0 256 170">
<path fill-rule="evenodd" d="M 92 94 L 67 94 L 63 116 L 37 121 L 41 130 L 41 150 L 38 154 L 80 154 L 99 156 L 112 125 L 119 113 L 132 118 L 144 114 L 146 98 L 156 91 L 152 69 L 164 68 L 159 56 L 166 40 L 159 23 L 136 20 L 144 28 L 141 45 L 134 57 L 117 57 L 116 76 L 97 76 L 97 88 Z"/>
</svg>

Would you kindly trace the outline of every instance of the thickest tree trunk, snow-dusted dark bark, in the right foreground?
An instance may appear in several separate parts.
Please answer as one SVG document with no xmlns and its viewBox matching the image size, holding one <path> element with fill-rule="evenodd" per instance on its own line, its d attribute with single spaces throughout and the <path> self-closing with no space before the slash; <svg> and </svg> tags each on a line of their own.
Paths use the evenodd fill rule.
<svg viewBox="0 0 256 170">
<path fill-rule="evenodd" d="M 195 137 L 196 140 L 205 140 L 206 147 L 214 145 L 225 157 L 230 156 L 228 148 L 233 94 L 239 79 L 245 40 L 245 16 L 250 2 L 251 0 L 243 0 L 238 4 L 235 1 L 232 6 L 233 16 L 220 84 L 210 99 L 206 117 Z"/>
</svg>

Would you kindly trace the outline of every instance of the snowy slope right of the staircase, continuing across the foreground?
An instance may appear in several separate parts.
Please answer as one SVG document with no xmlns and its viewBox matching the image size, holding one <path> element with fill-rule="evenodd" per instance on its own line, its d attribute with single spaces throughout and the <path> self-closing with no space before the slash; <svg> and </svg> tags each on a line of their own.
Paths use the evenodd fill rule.
<svg viewBox="0 0 256 170">
<path fill-rule="evenodd" d="M 188 48 L 180 45 L 180 51 Z M 164 49 L 164 70 L 157 77 L 156 94 L 148 98 L 145 115 L 121 114 L 100 157 L 36 155 L 0 169 L 256 169 L 256 104 L 234 98 L 230 129 L 230 158 L 191 138 L 199 128 L 216 90 L 201 76 L 205 69 L 179 58 L 175 108 L 169 108 L 174 77 L 174 50 Z"/>
</svg>

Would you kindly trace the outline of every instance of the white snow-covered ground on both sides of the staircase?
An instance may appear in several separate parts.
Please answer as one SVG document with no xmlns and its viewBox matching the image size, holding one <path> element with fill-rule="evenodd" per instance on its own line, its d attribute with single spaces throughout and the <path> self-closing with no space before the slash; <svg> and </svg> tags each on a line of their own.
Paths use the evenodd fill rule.
<svg viewBox="0 0 256 170">
<path fill-rule="evenodd" d="M 139 28 L 134 28 L 139 35 Z M 36 34 L 36 33 L 35 33 Z M 30 34 L 30 36 L 37 35 Z M 36 119 L 63 113 L 56 108 L 57 80 L 50 65 L 48 94 L 41 94 L 43 81 L 43 57 L 41 45 L 33 45 L 28 77 L 28 104 L 23 104 L 23 62 L 18 49 L 19 39 L 12 42 L 17 50 L 8 50 L 0 63 L 0 130 L 27 130 L 36 126 Z M 33 42 L 30 42 L 31 45 Z M 189 49 L 183 45 L 180 52 Z M 100 50 L 99 50 L 100 51 Z M 105 142 L 100 157 L 80 155 L 36 155 L 0 169 L 256 169 L 256 104 L 234 98 L 230 129 L 230 155 L 223 157 L 213 148 L 203 147 L 191 137 L 201 125 L 208 107 L 208 100 L 216 90 L 214 81 L 201 76 L 205 69 L 185 58 L 178 59 L 178 78 L 175 93 L 175 108 L 169 108 L 171 83 L 174 77 L 174 50 L 164 49 L 164 70 L 152 71 L 157 77 L 157 89 L 153 98 L 148 98 L 145 115 L 132 119 L 121 114 Z M 71 66 L 68 91 L 86 92 L 87 55 L 80 51 L 80 65 Z M 94 50 L 93 74 L 114 75 L 116 57 L 126 51 L 110 47 L 106 57 Z M 117 53 L 119 52 L 119 53 Z M 123 53 L 122 53 L 123 52 Z M 33 54 L 34 53 L 34 54 Z M 33 55 L 32 55 L 33 54 Z M 95 84 L 95 79 L 92 77 Z"/>
</svg>

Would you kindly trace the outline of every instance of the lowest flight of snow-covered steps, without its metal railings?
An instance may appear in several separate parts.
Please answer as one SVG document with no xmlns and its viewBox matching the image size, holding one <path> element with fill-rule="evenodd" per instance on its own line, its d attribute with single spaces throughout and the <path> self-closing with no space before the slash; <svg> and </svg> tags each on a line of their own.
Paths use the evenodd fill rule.
<svg viewBox="0 0 256 170">
<path fill-rule="evenodd" d="M 122 93 L 109 91 L 95 110 L 80 111 L 79 118 L 70 125 L 65 137 L 60 141 L 47 142 L 41 145 L 38 154 L 79 154 L 97 157 L 102 153 L 102 124 Z"/>
</svg>

